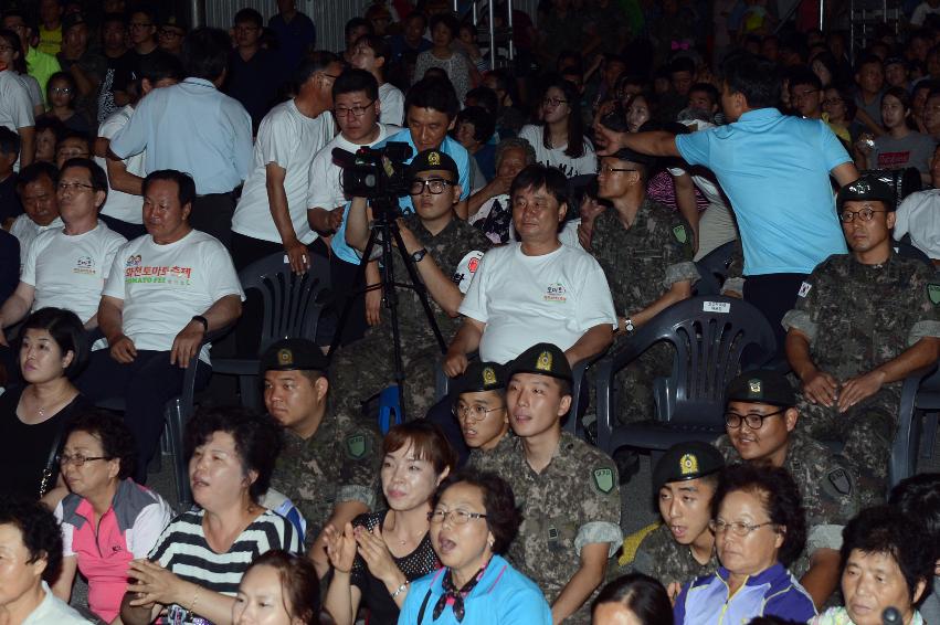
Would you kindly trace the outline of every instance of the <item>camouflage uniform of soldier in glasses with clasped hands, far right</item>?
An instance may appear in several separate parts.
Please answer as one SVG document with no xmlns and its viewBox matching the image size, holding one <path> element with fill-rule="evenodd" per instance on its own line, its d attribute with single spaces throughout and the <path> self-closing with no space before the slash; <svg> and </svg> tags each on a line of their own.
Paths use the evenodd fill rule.
<svg viewBox="0 0 940 625">
<path fill-rule="evenodd" d="M 883 265 L 830 256 L 799 295 L 783 327 L 806 335 L 815 366 L 838 382 L 897 358 L 923 337 L 940 337 L 940 280 L 923 263 L 894 253 Z M 842 414 L 798 395 L 800 428 L 816 439 L 845 443 L 843 455 L 858 469 L 866 505 L 884 497 L 901 386 L 885 384 Z"/>
</svg>

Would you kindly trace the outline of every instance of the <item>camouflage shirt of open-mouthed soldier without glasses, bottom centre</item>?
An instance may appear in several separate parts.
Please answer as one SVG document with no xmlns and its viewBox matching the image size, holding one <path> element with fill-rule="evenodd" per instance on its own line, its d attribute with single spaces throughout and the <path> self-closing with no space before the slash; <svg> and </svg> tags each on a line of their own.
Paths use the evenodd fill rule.
<svg viewBox="0 0 940 625">
<path fill-rule="evenodd" d="M 619 547 L 619 478 L 603 452 L 563 432 L 551 462 L 538 474 L 526 460 L 521 439 L 515 438 L 487 468 L 509 484 L 522 511 L 509 559 L 539 585 L 550 604 L 580 568 L 583 545 L 609 542 L 609 555 Z M 590 623 L 592 598 L 566 623 Z"/>
</svg>

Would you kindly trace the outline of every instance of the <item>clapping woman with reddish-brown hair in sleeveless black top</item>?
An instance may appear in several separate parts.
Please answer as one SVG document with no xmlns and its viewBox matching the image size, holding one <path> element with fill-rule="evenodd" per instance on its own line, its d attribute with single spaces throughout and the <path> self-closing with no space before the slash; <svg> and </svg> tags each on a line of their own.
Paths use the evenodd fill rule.
<svg viewBox="0 0 940 625">
<path fill-rule="evenodd" d="M 424 421 L 395 425 L 382 441 L 382 494 L 388 510 L 326 529 L 332 580 L 325 607 L 352 625 L 360 606 L 370 623 L 397 623 L 410 584 L 441 568 L 431 543 L 431 500 L 456 466 L 443 432 Z"/>
</svg>

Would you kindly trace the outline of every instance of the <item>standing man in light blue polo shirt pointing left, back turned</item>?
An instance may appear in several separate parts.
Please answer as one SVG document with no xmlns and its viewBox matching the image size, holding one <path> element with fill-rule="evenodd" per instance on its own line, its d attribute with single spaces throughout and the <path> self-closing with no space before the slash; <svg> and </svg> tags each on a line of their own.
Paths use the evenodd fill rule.
<svg viewBox="0 0 940 625">
<path fill-rule="evenodd" d="M 731 121 L 691 135 L 613 134 L 605 153 L 619 147 L 682 157 L 711 169 L 741 232 L 744 299 L 760 308 L 782 348 L 780 320 L 796 300 L 803 278 L 832 254 L 844 254 L 830 176 L 839 186 L 858 178 L 852 158 L 825 123 L 782 115 L 773 65 L 750 54 L 724 66 L 721 105 Z"/>
</svg>

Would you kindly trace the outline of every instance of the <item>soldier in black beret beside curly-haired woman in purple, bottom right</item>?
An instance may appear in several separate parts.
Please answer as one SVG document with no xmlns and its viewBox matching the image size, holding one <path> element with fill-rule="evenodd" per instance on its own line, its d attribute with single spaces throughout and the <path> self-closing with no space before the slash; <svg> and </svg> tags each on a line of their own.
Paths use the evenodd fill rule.
<svg viewBox="0 0 940 625">
<path fill-rule="evenodd" d="M 621 566 L 652 575 L 675 596 L 678 587 L 718 569 L 711 521 L 711 497 L 725 468 L 721 454 L 708 443 L 677 443 L 656 463 L 653 491 L 662 523 L 643 536 L 630 561 L 624 540 Z M 641 530 L 643 534 L 647 530 Z M 670 612 L 672 614 L 672 612 Z"/>
</svg>

